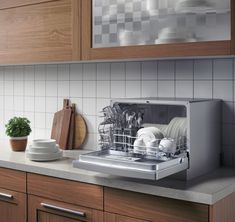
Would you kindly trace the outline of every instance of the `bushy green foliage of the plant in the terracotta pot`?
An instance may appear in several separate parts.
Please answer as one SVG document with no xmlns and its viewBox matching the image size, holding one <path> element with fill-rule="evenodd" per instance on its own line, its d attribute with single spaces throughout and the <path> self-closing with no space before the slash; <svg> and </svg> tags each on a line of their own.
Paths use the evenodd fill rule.
<svg viewBox="0 0 235 222">
<path fill-rule="evenodd" d="M 31 133 L 30 121 L 24 117 L 13 117 L 5 125 L 6 134 L 10 137 L 24 137 Z"/>
</svg>

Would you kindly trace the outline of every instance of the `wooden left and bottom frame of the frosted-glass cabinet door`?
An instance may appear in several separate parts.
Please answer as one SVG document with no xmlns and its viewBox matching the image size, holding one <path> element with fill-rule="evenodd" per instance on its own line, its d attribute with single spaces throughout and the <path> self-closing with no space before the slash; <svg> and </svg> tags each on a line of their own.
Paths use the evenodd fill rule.
<svg viewBox="0 0 235 222">
<path fill-rule="evenodd" d="M 178 44 L 123 46 L 110 48 L 92 48 L 92 4 L 82 1 L 82 59 L 110 60 L 157 57 L 216 56 L 230 55 L 231 41 L 210 41 Z"/>
</svg>

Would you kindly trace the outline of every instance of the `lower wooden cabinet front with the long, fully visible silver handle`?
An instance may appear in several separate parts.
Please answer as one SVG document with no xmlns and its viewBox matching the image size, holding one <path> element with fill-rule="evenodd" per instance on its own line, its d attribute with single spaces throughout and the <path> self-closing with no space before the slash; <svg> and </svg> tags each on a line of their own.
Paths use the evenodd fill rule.
<svg viewBox="0 0 235 222">
<path fill-rule="evenodd" d="M 103 222 L 103 212 L 68 203 L 28 196 L 28 222 Z"/>
</svg>

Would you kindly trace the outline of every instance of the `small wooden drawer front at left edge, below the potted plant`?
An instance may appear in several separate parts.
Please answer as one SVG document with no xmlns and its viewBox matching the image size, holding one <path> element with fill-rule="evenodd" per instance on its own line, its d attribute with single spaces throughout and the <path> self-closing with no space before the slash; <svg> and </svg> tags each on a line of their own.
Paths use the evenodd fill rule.
<svg viewBox="0 0 235 222">
<path fill-rule="evenodd" d="M 0 187 L 26 193 L 26 173 L 0 168 Z"/>
</svg>

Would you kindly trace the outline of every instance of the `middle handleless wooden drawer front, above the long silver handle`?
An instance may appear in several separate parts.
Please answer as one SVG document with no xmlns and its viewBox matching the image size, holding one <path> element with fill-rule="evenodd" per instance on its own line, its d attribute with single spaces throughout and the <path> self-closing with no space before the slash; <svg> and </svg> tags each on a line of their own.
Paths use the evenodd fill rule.
<svg viewBox="0 0 235 222">
<path fill-rule="evenodd" d="M 28 174 L 28 193 L 50 199 L 103 210 L 103 187 Z"/>
</svg>

